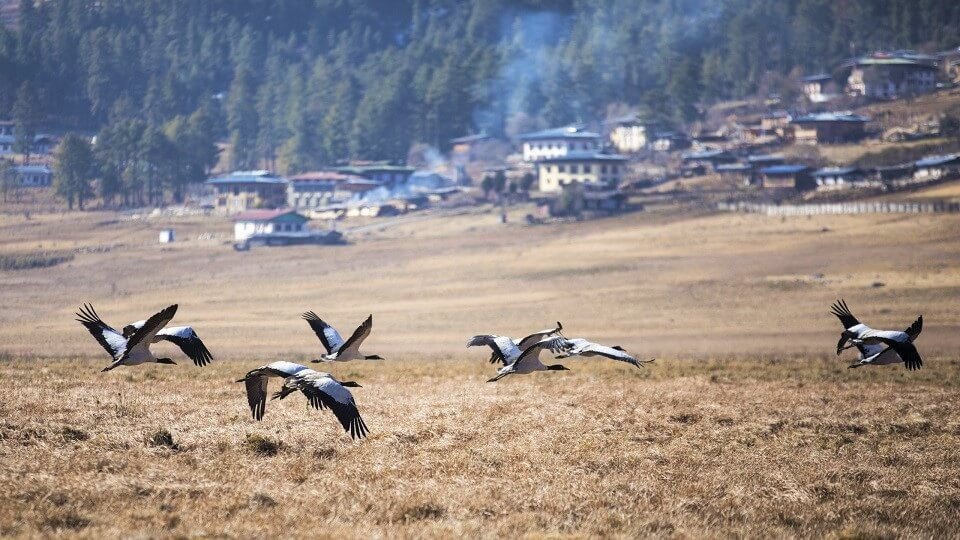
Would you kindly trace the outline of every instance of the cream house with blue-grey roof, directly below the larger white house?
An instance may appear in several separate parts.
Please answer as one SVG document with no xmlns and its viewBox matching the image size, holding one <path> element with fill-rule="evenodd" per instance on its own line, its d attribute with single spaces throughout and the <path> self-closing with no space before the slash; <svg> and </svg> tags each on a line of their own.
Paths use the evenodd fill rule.
<svg viewBox="0 0 960 540">
<path fill-rule="evenodd" d="M 541 192 L 560 191 L 573 182 L 615 188 L 627 172 L 627 158 L 597 152 L 574 152 L 537 162 Z"/>
</svg>

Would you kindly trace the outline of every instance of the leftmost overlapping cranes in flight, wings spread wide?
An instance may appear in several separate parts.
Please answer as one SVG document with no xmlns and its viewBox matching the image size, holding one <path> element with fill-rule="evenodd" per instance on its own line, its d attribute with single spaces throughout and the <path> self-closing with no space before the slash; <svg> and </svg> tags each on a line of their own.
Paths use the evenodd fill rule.
<svg viewBox="0 0 960 540">
<path fill-rule="evenodd" d="M 90 304 L 84 304 L 80 308 L 80 312 L 77 315 L 77 321 L 82 324 L 86 329 L 96 338 L 97 342 L 106 350 L 110 356 L 114 359 L 114 364 L 108 366 L 104 371 L 109 371 L 117 366 L 133 366 L 138 364 L 143 364 L 147 362 L 155 362 L 158 364 L 175 364 L 173 360 L 169 358 L 156 358 L 153 356 L 153 353 L 150 352 L 150 345 L 154 343 L 159 343 L 161 341 L 169 341 L 176 346 L 180 347 L 180 350 L 183 351 L 193 363 L 197 366 L 205 366 L 213 360 L 213 355 L 210 354 L 210 351 L 207 350 L 206 345 L 203 344 L 203 341 L 200 339 L 200 336 L 194 331 L 190 326 L 176 326 L 171 328 L 164 328 L 167 323 L 170 322 L 170 319 L 173 318 L 173 315 L 177 311 L 177 305 L 174 304 L 164 311 L 161 311 L 154 317 L 167 312 L 170 310 L 170 317 L 166 320 L 158 319 L 156 324 L 159 324 L 159 328 L 155 331 L 147 331 L 149 339 L 138 338 L 138 341 L 134 344 L 131 344 L 131 340 L 138 332 L 144 330 L 144 327 L 147 326 L 147 323 L 150 320 L 153 320 L 151 317 L 150 320 L 137 321 L 135 323 L 130 323 L 123 327 L 123 332 L 118 332 L 113 327 L 103 322 L 103 319 L 100 318 L 100 315 L 93 309 L 93 306 Z M 138 344 L 138 347 L 134 345 Z M 136 349 L 129 351 L 127 358 L 123 362 L 117 362 L 118 355 L 123 352 L 126 352 L 127 349 Z"/>
</svg>

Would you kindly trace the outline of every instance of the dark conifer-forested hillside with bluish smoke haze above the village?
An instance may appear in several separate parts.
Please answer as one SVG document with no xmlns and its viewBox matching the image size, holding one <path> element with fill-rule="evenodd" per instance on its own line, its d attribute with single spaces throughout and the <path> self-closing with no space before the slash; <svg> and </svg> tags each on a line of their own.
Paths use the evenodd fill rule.
<svg viewBox="0 0 960 540">
<path fill-rule="evenodd" d="M 0 117 L 18 96 L 71 129 L 204 109 L 235 166 L 289 170 L 614 103 L 685 121 L 852 54 L 960 45 L 956 0 L 20 0 L 17 15 Z"/>
</svg>

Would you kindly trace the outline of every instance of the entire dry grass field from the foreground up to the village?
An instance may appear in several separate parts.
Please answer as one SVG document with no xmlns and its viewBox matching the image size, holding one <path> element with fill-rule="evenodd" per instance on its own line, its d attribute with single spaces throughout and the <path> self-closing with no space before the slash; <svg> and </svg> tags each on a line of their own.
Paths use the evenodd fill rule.
<svg viewBox="0 0 960 540">
<path fill-rule="evenodd" d="M 226 220 L 0 216 L 0 256 L 73 255 L 0 270 L 0 535 L 957 534 L 960 217 L 526 211 L 247 253 Z M 848 370 L 841 296 L 880 327 L 922 313 L 924 368 Z M 116 325 L 179 302 L 216 361 L 101 374 L 84 301 Z M 363 385 L 363 441 L 301 396 L 254 422 L 233 382 L 315 357 L 307 309 L 374 313 L 387 360 L 329 368 Z M 658 360 L 487 384 L 463 348 L 556 320 Z"/>
</svg>

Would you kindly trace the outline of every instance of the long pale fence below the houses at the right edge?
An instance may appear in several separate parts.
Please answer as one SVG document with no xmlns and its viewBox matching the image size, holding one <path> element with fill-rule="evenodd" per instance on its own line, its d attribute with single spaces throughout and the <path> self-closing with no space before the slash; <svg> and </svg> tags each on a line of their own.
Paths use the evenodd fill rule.
<svg viewBox="0 0 960 540">
<path fill-rule="evenodd" d="M 960 203 L 947 202 L 846 202 L 821 204 L 717 203 L 726 212 L 749 212 L 767 216 L 820 216 L 826 214 L 956 214 Z"/>
</svg>

